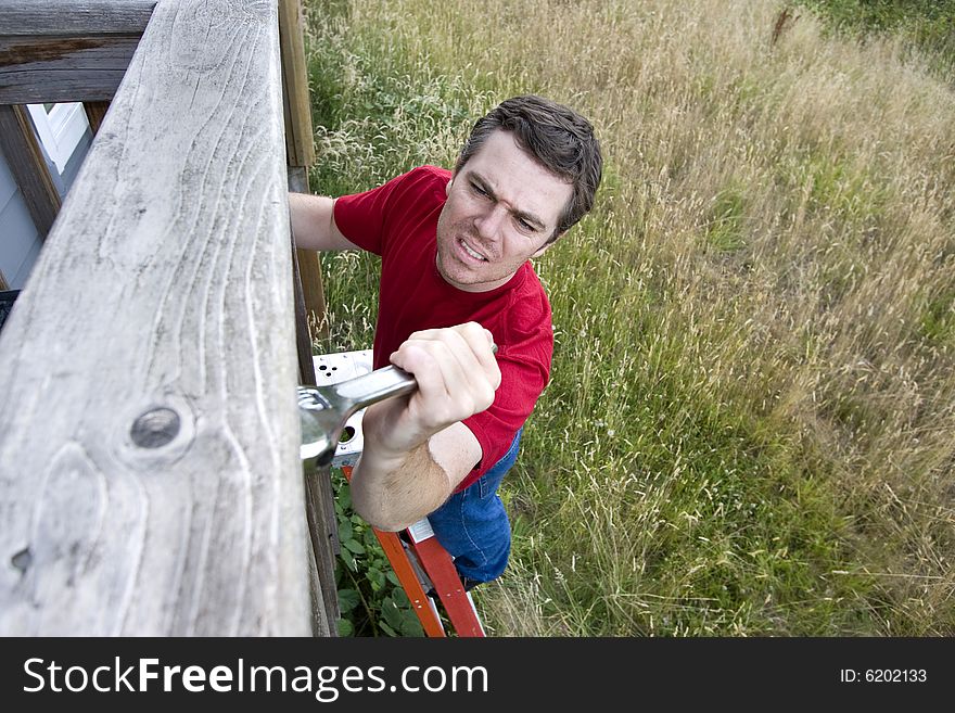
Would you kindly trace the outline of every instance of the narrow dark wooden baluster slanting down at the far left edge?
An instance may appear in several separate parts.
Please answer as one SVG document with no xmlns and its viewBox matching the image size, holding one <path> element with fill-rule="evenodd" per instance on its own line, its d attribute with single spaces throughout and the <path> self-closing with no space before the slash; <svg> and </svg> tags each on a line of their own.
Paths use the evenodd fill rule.
<svg viewBox="0 0 955 713">
<path fill-rule="evenodd" d="M 20 186 L 37 232 L 46 238 L 60 212 L 60 192 L 25 106 L 0 104 L 0 151 Z"/>
</svg>

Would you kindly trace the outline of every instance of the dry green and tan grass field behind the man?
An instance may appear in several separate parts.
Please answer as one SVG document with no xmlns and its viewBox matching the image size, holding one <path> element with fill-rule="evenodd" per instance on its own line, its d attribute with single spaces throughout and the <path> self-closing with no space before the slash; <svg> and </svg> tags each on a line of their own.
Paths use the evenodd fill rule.
<svg viewBox="0 0 955 713">
<path fill-rule="evenodd" d="M 601 138 L 535 263 L 553 374 L 493 635 L 955 634 L 953 84 L 784 7 L 307 3 L 316 192 L 450 166 L 518 93 Z M 316 348 L 367 348 L 375 258 L 322 260 Z"/>
</svg>

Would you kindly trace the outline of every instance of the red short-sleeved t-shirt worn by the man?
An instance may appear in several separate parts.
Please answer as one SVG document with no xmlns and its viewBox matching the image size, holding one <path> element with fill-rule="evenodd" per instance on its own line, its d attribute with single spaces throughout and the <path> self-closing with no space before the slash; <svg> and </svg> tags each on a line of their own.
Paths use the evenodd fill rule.
<svg viewBox="0 0 955 713">
<path fill-rule="evenodd" d="M 501 383 L 494 404 L 464 420 L 482 458 L 461 482 L 468 487 L 507 453 L 547 385 L 553 354 L 550 303 L 531 263 L 506 284 L 463 292 L 437 271 L 437 218 L 451 174 L 423 166 L 384 186 L 335 201 L 335 225 L 359 247 L 381 255 L 374 368 L 422 329 L 476 321 L 494 335 Z"/>
</svg>

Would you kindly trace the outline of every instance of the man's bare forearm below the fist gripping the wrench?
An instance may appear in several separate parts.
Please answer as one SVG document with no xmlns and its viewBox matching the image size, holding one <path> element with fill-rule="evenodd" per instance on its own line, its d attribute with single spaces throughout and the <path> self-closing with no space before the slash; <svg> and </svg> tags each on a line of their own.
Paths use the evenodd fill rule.
<svg viewBox="0 0 955 713">
<path fill-rule="evenodd" d="M 447 472 L 428 442 L 410 453 L 383 455 L 366 442 L 352 473 L 352 505 L 379 530 L 398 531 L 441 507 L 451 492 Z"/>
</svg>

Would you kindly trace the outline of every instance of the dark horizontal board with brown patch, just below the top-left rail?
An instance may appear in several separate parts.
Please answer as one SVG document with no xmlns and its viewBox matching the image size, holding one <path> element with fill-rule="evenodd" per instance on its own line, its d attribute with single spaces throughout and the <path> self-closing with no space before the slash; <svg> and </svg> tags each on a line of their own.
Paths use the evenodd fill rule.
<svg viewBox="0 0 955 713">
<path fill-rule="evenodd" d="M 137 44 L 137 35 L 0 36 L 0 103 L 109 100 Z"/>
</svg>

